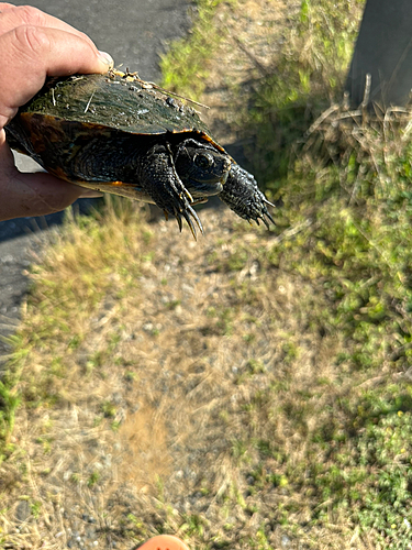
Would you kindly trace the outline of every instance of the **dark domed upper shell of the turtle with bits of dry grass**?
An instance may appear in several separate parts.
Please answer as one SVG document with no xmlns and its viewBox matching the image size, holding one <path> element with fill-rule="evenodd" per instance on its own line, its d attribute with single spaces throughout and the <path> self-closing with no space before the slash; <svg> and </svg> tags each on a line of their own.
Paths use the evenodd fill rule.
<svg viewBox="0 0 412 550">
<path fill-rule="evenodd" d="M 194 133 L 224 152 L 192 108 L 127 73 L 51 78 L 20 109 L 19 119 L 32 143 L 37 129 L 58 128 L 66 121 L 93 133 L 108 129 L 135 135 Z"/>
</svg>

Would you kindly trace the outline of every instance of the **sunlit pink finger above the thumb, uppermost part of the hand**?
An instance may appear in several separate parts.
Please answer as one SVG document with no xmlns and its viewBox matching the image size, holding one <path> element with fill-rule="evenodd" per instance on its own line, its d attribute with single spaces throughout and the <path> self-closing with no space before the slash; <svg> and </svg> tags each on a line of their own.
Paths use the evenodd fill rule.
<svg viewBox="0 0 412 550">
<path fill-rule="evenodd" d="M 13 6 L 11 3 L 0 3 L 0 36 L 5 34 L 16 26 L 33 25 L 47 26 L 49 29 L 58 29 L 76 36 L 79 36 L 92 44 L 89 36 L 74 26 L 60 21 L 53 15 L 48 15 L 33 6 Z"/>
</svg>

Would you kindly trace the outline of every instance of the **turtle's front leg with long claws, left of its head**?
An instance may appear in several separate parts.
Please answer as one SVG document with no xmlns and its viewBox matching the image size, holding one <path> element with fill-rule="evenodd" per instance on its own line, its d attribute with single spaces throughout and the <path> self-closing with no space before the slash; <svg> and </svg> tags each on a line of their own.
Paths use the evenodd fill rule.
<svg viewBox="0 0 412 550">
<path fill-rule="evenodd" d="M 190 206 L 193 198 L 179 178 L 171 152 L 167 145 L 155 145 L 148 151 L 147 155 L 144 155 L 144 160 L 140 165 L 138 179 L 144 190 L 165 212 L 166 219 L 169 213 L 175 216 L 180 231 L 181 218 L 185 218 L 196 239 L 193 218 L 203 233 L 202 223 Z"/>
</svg>

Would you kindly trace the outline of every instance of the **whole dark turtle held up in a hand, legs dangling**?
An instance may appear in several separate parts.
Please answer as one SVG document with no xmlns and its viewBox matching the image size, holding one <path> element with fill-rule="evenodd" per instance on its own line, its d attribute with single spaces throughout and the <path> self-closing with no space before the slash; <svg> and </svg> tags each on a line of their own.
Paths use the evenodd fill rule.
<svg viewBox="0 0 412 550">
<path fill-rule="evenodd" d="M 203 232 L 193 205 L 216 195 L 240 217 L 274 220 L 256 179 L 198 112 L 136 74 L 52 77 L 5 127 L 12 148 L 76 185 L 156 204 Z"/>
</svg>

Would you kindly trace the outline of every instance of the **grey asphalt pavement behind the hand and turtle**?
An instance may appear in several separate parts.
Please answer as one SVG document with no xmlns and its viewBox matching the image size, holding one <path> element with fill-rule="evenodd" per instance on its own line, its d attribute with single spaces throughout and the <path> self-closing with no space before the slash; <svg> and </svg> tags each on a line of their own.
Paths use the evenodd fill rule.
<svg viewBox="0 0 412 550">
<path fill-rule="evenodd" d="M 36 0 L 16 6 L 34 6 L 87 33 L 99 50 L 109 52 L 115 66 L 123 64 L 145 80 L 158 80 L 159 56 L 170 41 L 187 33 L 190 24 L 189 0 Z M 23 155 L 16 164 L 24 172 L 38 166 Z M 78 201 L 79 208 L 88 205 Z M 62 222 L 62 215 L 20 218 L 0 222 L 0 336 L 8 336 L 19 321 L 20 304 L 27 292 L 24 271 L 42 250 L 42 234 Z M 8 345 L 0 340 L 0 356 Z"/>
</svg>

